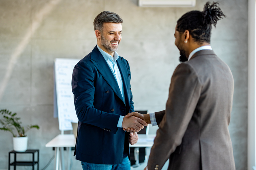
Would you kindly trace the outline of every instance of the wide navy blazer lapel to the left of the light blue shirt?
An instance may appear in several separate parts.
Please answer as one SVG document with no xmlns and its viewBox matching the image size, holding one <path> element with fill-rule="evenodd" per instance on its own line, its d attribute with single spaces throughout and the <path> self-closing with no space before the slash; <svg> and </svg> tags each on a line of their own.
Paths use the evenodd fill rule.
<svg viewBox="0 0 256 170">
<path fill-rule="evenodd" d="M 92 50 L 91 61 L 95 65 L 95 67 L 99 70 L 100 74 L 103 76 L 105 81 L 116 93 L 116 95 L 123 101 L 123 97 L 120 92 L 119 86 L 117 84 L 116 78 L 114 77 L 112 71 L 110 70 L 109 65 L 107 65 L 107 62 L 105 61 L 104 57 L 101 55 L 100 51 L 98 50 L 97 45 Z"/>
</svg>

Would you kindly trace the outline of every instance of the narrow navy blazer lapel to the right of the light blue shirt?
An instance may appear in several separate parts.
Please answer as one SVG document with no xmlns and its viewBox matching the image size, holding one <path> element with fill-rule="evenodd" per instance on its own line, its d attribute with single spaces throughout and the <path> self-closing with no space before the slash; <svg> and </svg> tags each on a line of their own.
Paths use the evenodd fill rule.
<svg viewBox="0 0 256 170">
<path fill-rule="evenodd" d="M 124 97 L 125 97 L 126 103 L 128 103 L 128 106 L 129 106 L 130 105 L 130 93 L 128 93 L 128 85 L 129 85 L 128 74 L 129 73 L 125 63 L 122 61 L 122 57 L 119 57 L 116 62 L 123 80 Z"/>
</svg>

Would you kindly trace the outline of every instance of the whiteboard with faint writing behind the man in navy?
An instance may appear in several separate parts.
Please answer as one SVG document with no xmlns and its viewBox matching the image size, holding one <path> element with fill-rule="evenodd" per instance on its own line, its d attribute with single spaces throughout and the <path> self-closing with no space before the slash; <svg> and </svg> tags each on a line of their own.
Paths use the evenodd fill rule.
<svg viewBox="0 0 256 170">
<path fill-rule="evenodd" d="M 54 61 L 54 115 L 58 113 L 60 131 L 72 130 L 71 122 L 78 122 L 71 80 L 73 69 L 79 61 L 67 58 L 56 58 Z"/>
</svg>

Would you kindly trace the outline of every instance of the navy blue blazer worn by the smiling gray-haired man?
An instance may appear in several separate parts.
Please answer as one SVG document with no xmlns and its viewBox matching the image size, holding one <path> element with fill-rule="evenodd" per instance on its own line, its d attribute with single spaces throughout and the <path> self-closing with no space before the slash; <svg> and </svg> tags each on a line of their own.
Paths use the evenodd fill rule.
<svg viewBox="0 0 256 170">
<path fill-rule="evenodd" d="M 120 164 L 124 150 L 129 155 L 129 134 L 117 128 L 120 115 L 134 112 L 130 67 L 117 59 L 125 101 L 109 65 L 97 46 L 75 65 L 72 92 L 78 118 L 75 154 L 77 160 L 97 164 Z"/>
</svg>

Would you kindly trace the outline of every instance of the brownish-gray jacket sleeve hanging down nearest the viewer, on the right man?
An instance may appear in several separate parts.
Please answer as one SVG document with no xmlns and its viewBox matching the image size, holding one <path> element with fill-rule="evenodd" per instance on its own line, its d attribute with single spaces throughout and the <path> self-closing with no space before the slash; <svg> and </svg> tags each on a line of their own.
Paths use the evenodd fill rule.
<svg viewBox="0 0 256 170">
<path fill-rule="evenodd" d="M 199 100 L 200 89 L 194 69 L 187 63 L 179 64 L 171 78 L 166 111 L 150 152 L 149 170 L 153 170 L 156 165 L 162 169 L 171 153 L 181 144 Z"/>
</svg>

